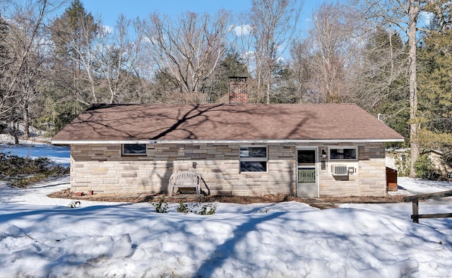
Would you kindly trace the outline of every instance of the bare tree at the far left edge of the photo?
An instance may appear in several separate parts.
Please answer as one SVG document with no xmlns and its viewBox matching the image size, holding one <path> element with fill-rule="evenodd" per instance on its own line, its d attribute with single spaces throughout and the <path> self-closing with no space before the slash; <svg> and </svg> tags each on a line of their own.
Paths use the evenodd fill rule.
<svg viewBox="0 0 452 278">
<path fill-rule="evenodd" d="M 28 0 L 8 5 L 7 54 L 1 66 L 0 119 L 10 121 L 18 143 L 18 123 L 29 136 L 30 104 L 39 97 L 49 64 L 45 19 L 56 6 L 52 1 Z"/>
</svg>

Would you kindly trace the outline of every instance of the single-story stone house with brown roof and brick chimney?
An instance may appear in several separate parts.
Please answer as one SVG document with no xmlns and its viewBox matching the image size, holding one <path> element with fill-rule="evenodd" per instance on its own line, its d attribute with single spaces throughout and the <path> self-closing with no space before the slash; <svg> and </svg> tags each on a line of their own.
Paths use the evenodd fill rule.
<svg viewBox="0 0 452 278">
<path fill-rule="evenodd" d="M 167 193 L 191 171 L 212 195 L 386 195 L 385 143 L 403 136 L 355 104 L 97 104 L 52 138 L 71 145 L 71 190 Z M 208 188 L 208 189 L 207 189 Z"/>
</svg>

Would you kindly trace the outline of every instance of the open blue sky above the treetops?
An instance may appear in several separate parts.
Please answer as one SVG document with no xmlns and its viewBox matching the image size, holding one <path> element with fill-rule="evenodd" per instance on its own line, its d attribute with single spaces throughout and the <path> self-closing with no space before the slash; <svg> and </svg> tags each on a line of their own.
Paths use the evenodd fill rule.
<svg viewBox="0 0 452 278">
<path fill-rule="evenodd" d="M 145 18 L 153 12 L 165 13 L 169 16 L 179 16 L 185 11 L 196 13 L 212 13 L 221 8 L 238 14 L 248 11 L 251 7 L 250 0 L 81 0 L 85 10 L 95 16 L 102 16 L 105 25 L 114 27 L 118 16 L 123 13 L 126 18 Z M 332 2 L 333 0 L 326 0 Z M 320 6 L 323 0 L 306 0 L 303 14 L 300 20 L 302 29 L 309 26 L 311 14 L 314 8 Z"/>
</svg>

